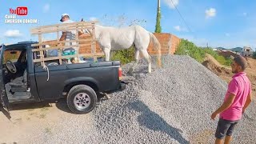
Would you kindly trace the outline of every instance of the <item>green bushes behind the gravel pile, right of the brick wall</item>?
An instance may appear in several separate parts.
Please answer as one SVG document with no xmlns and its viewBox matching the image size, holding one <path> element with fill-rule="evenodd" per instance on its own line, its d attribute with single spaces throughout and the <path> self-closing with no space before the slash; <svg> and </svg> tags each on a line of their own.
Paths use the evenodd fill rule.
<svg viewBox="0 0 256 144">
<path fill-rule="evenodd" d="M 218 55 L 218 53 L 212 48 L 198 47 L 195 46 L 193 42 L 185 39 L 182 39 L 182 41 L 178 45 L 178 49 L 176 50 L 175 54 L 189 55 L 191 58 L 194 58 L 200 63 L 203 62 L 206 54 L 210 54 L 222 65 L 230 66 L 230 64 L 232 63 L 231 58 L 224 58 L 223 56 Z"/>
</svg>

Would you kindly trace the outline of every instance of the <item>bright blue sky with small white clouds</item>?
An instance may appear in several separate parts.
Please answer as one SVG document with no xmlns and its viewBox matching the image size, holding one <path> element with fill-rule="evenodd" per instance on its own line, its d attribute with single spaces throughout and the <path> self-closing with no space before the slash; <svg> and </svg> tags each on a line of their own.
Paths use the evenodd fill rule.
<svg viewBox="0 0 256 144">
<path fill-rule="evenodd" d="M 0 5 L 0 43 L 37 41 L 30 29 L 61 23 L 63 13 L 73 21 L 98 20 L 103 26 L 138 24 L 154 32 L 157 0 L 76 0 L 32 1 L 8 0 Z M 26 6 L 26 16 L 18 19 L 37 19 L 37 23 L 6 23 L 10 9 Z M 161 0 L 162 33 L 170 33 L 194 42 L 197 46 L 256 47 L 256 1 L 252 0 Z M 175 8 L 176 6 L 176 8 Z M 179 12 L 179 13 L 178 13 Z M 56 36 L 55 36 L 56 37 Z M 45 35 L 45 39 L 54 38 Z"/>
</svg>

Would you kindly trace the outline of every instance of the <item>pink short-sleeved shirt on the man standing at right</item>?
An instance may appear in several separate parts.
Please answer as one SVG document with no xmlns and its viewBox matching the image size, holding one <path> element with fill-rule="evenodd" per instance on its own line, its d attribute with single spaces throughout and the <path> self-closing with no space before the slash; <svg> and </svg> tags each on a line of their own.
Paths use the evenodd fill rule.
<svg viewBox="0 0 256 144">
<path fill-rule="evenodd" d="M 234 74 L 226 91 L 224 102 L 226 102 L 229 93 L 235 95 L 234 102 L 227 110 L 224 110 L 220 114 L 220 118 L 236 121 L 242 117 L 242 107 L 246 103 L 248 94 L 251 93 L 250 80 L 247 78 L 245 72 Z"/>
</svg>

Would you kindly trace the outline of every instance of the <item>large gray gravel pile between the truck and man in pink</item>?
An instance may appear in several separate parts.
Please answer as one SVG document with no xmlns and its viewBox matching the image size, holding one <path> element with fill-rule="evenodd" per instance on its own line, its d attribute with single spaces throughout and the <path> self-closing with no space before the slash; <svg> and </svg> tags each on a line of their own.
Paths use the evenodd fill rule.
<svg viewBox="0 0 256 144">
<path fill-rule="evenodd" d="M 155 63 L 155 62 L 154 62 Z M 147 74 L 142 59 L 134 82 L 110 94 L 93 111 L 98 142 L 212 143 L 227 83 L 188 56 L 163 56 L 163 68 Z M 123 66 L 124 73 L 131 64 Z M 250 106 L 234 134 L 234 143 L 253 143 L 256 112 Z M 240 142 L 239 142 L 240 141 Z"/>
</svg>

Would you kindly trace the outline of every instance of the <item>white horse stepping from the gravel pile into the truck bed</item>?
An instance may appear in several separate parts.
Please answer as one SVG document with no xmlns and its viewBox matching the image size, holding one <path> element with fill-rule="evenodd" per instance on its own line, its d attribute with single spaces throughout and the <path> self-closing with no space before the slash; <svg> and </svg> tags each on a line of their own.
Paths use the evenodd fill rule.
<svg viewBox="0 0 256 144">
<path fill-rule="evenodd" d="M 88 30 L 92 34 L 92 30 Z M 158 66 L 161 66 L 161 45 L 154 34 L 142 28 L 142 26 L 127 26 L 115 28 L 111 26 L 95 25 L 95 37 L 103 50 L 106 61 L 110 61 L 110 50 L 129 49 L 135 47 L 135 62 L 129 70 L 132 72 L 138 64 L 139 53 L 146 58 L 148 62 L 148 72 L 151 73 L 151 58 L 147 52 L 150 40 L 154 43 L 154 48 L 158 50 Z"/>
</svg>

